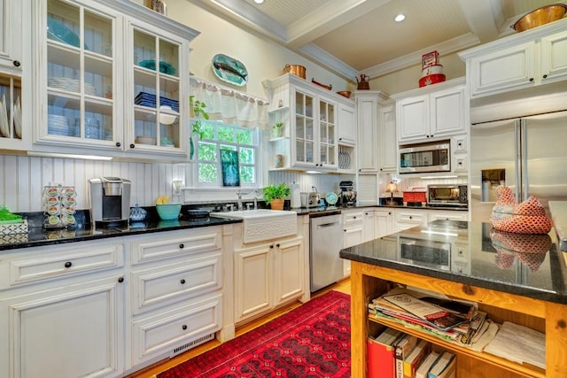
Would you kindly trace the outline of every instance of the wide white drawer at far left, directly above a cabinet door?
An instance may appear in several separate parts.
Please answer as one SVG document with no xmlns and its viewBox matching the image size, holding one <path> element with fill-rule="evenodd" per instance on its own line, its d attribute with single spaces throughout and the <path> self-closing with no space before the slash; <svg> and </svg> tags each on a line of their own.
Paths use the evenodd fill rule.
<svg viewBox="0 0 567 378">
<path fill-rule="evenodd" d="M 1 261 L 0 289 L 124 266 L 124 245 L 121 243 L 67 245 L 34 248 Z"/>
</svg>

